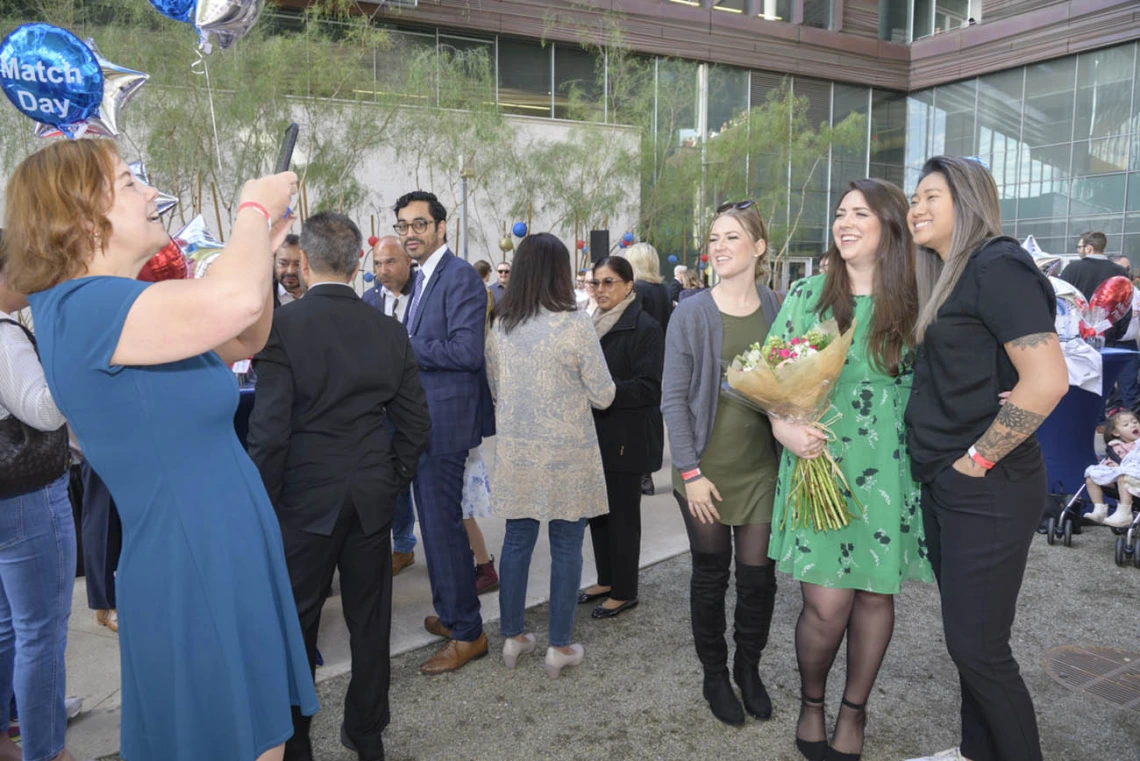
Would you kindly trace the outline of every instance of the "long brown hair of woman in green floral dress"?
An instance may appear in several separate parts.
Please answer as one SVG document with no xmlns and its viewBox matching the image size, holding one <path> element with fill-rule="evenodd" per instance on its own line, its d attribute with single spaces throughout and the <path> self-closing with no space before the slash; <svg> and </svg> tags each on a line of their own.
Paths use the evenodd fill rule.
<svg viewBox="0 0 1140 761">
<path fill-rule="evenodd" d="M 880 229 L 872 285 L 874 316 L 868 335 L 868 355 L 880 373 L 897 376 L 906 363 L 907 346 L 913 343 L 919 313 L 914 240 L 906 226 L 906 196 L 886 180 L 853 180 L 839 197 L 837 211 L 844 198 L 855 190 L 863 194 L 871 212 L 879 218 Z M 839 329 L 846 330 L 855 317 L 855 296 L 852 295 L 850 279 L 834 236 L 824 257 L 829 264 L 828 275 L 815 311 L 822 317 L 830 309 Z"/>
</svg>

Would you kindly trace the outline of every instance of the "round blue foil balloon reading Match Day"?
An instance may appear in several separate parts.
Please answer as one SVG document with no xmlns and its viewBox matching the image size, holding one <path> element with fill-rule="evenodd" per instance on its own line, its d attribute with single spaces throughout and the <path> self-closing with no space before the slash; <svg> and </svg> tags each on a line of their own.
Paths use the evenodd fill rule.
<svg viewBox="0 0 1140 761">
<path fill-rule="evenodd" d="M 24 24 L 0 42 L 0 88 L 28 118 L 76 138 L 103 104 L 103 71 L 67 30 Z"/>
</svg>

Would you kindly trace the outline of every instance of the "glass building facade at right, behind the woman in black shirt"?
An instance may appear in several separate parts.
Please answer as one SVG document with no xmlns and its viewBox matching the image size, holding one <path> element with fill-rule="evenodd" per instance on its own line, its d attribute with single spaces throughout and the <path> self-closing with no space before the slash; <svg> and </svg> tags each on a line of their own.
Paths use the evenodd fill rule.
<svg viewBox="0 0 1140 761">
<path fill-rule="evenodd" d="M 1140 62 L 1129 43 L 912 92 L 905 189 L 926 157 L 980 156 L 1008 235 L 1075 254 L 1101 231 L 1140 263 Z"/>
</svg>

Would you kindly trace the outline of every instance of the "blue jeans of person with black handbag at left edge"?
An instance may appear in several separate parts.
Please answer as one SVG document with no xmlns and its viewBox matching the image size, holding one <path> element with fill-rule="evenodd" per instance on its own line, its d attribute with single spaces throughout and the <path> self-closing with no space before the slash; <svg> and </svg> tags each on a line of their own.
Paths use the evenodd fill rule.
<svg viewBox="0 0 1140 761">
<path fill-rule="evenodd" d="M 0 499 L 0 727 L 19 705 L 25 761 L 64 750 L 67 620 L 75 584 L 75 521 L 67 476 Z"/>
</svg>

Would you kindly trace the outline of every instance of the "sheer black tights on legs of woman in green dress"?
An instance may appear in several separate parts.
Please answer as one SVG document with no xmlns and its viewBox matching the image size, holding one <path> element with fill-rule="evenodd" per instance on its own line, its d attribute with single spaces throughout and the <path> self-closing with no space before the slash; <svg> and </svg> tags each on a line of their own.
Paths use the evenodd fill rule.
<svg viewBox="0 0 1140 761">
<path fill-rule="evenodd" d="M 828 673 L 847 633 L 847 682 L 844 697 L 863 705 L 895 630 L 895 598 L 891 595 L 831 589 L 801 583 L 804 609 L 796 622 L 796 661 L 803 693 L 809 698 L 826 695 Z M 863 750 L 865 711 L 841 705 L 831 735 L 831 746 L 841 753 Z M 826 737 L 823 704 L 800 706 L 796 736 L 805 740 Z"/>
</svg>

